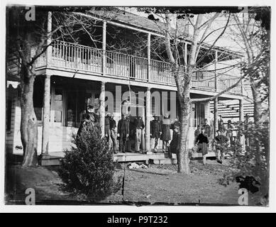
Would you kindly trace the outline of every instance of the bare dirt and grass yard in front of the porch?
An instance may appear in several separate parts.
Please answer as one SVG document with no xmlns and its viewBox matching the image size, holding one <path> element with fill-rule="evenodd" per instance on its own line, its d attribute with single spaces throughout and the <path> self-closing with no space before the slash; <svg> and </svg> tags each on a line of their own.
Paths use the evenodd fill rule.
<svg viewBox="0 0 276 227">
<path fill-rule="evenodd" d="M 125 165 L 126 166 L 126 165 Z M 228 167 L 216 160 L 190 163 L 191 174 L 177 173 L 177 165 L 150 165 L 146 169 L 118 169 L 124 187 L 104 204 L 238 205 L 238 184 L 219 184 Z M 83 196 L 64 191 L 55 168 L 10 166 L 6 175 L 6 204 L 24 204 L 27 188 L 35 189 L 36 204 L 91 204 Z M 248 204 L 258 204 L 258 193 L 248 194 Z"/>
</svg>

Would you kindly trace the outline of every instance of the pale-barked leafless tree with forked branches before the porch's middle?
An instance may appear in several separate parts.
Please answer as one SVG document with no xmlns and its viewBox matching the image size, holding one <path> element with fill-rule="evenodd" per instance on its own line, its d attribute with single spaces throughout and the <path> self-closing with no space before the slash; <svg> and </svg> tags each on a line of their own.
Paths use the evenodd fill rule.
<svg viewBox="0 0 276 227">
<path fill-rule="evenodd" d="M 154 11 L 151 12 L 153 16 L 158 13 Z M 204 67 L 209 65 L 214 65 L 215 60 L 211 60 L 208 65 L 202 66 L 202 60 L 204 57 L 210 54 L 210 52 L 215 47 L 218 40 L 221 39 L 223 34 L 225 34 L 226 28 L 228 27 L 231 13 L 221 12 L 221 13 L 209 13 L 209 14 L 198 14 L 189 15 L 185 13 L 170 13 L 170 11 L 165 11 L 158 14 L 158 18 L 162 20 L 164 26 L 160 27 L 160 32 L 164 35 L 163 43 L 165 44 L 165 50 L 167 53 L 168 60 L 172 65 L 172 72 L 175 77 L 175 82 L 177 85 L 177 94 L 180 100 L 181 108 L 181 134 L 180 134 L 180 153 L 177 157 L 178 161 L 178 172 L 184 172 L 189 174 L 189 150 L 187 148 L 187 136 L 189 132 L 189 117 L 190 117 L 190 104 L 196 101 L 211 101 L 221 94 L 228 92 L 229 90 L 236 87 L 244 76 L 240 77 L 231 87 L 227 87 L 223 91 L 219 92 L 215 96 L 204 99 L 190 99 L 190 89 L 192 76 L 194 72 L 200 70 L 204 71 Z M 212 25 L 214 21 L 219 21 L 223 19 L 221 23 L 223 25 L 220 28 L 214 29 Z M 183 24 L 184 20 L 184 24 Z M 190 35 L 191 45 L 189 48 L 189 57 L 187 62 L 184 61 L 185 71 L 181 70 L 180 62 L 182 62 L 181 57 L 183 56 L 181 38 L 185 37 L 185 31 L 183 31 L 183 26 L 192 27 L 192 35 Z M 206 45 L 206 40 L 212 36 L 211 43 Z M 186 54 L 186 53 L 184 53 Z M 235 67 L 235 66 L 227 66 Z M 221 69 L 216 69 L 221 70 Z"/>
</svg>

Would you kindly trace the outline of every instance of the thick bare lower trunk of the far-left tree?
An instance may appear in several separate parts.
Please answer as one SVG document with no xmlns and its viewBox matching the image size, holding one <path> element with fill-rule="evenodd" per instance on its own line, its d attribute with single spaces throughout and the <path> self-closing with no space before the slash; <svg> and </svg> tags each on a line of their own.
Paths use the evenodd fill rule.
<svg viewBox="0 0 276 227">
<path fill-rule="evenodd" d="M 23 70 L 24 71 L 24 70 Z M 28 73 L 28 72 L 23 72 Z M 21 141 L 23 144 L 23 166 L 38 165 L 38 126 L 33 109 L 33 83 L 35 76 L 22 75 L 21 83 Z"/>
</svg>

